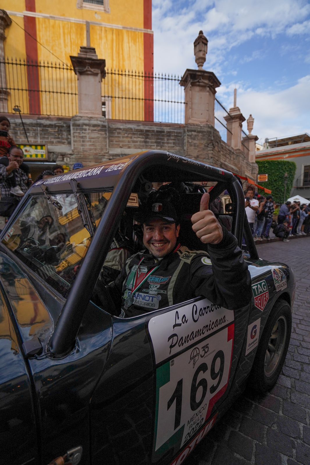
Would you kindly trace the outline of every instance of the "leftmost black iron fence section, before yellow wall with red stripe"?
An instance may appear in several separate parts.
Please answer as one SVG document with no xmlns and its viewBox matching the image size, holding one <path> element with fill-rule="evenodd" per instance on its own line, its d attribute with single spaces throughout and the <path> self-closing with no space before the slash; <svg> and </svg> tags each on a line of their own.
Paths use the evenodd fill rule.
<svg viewBox="0 0 310 465">
<path fill-rule="evenodd" d="M 0 93 L 7 111 L 18 105 L 24 114 L 73 116 L 77 113 L 77 79 L 62 63 L 0 60 Z"/>
</svg>

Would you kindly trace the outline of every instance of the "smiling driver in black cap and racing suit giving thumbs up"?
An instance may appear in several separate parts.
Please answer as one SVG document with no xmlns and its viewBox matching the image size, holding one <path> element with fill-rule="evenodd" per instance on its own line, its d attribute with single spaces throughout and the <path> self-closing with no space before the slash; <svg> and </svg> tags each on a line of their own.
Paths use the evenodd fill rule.
<svg viewBox="0 0 310 465">
<path fill-rule="evenodd" d="M 209 194 L 191 217 L 192 228 L 209 256 L 179 242 L 180 224 L 168 202 L 147 204 L 140 213 L 145 250 L 129 257 L 108 288 L 121 317 L 172 306 L 203 296 L 213 304 L 236 309 L 249 304 L 251 279 L 235 236 L 209 210 Z M 121 297 L 121 299 L 119 299 Z"/>
</svg>

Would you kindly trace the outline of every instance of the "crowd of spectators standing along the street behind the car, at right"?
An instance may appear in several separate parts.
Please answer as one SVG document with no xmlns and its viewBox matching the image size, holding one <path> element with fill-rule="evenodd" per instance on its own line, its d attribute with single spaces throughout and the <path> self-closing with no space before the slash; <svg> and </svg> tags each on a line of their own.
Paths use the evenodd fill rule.
<svg viewBox="0 0 310 465">
<path fill-rule="evenodd" d="M 270 239 L 270 229 L 283 242 L 289 242 L 289 236 L 301 236 L 310 233 L 310 204 L 299 201 L 287 201 L 280 206 L 274 219 L 276 203 L 272 195 L 259 195 L 249 187 L 245 194 L 245 212 L 254 240 Z"/>
</svg>

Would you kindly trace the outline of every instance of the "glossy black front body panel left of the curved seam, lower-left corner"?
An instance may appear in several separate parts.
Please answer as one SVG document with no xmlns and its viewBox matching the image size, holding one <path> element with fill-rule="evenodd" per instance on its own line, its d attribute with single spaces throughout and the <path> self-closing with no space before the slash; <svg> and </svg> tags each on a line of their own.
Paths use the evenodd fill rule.
<svg viewBox="0 0 310 465">
<path fill-rule="evenodd" d="M 12 285 L 10 269 L 5 271 L 7 284 Z M 12 313 L 0 292 L 0 444 L 1 463 L 37 464 L 37 431 L 32 398 L 32 383 L 20 349 L 19 334 Z"/>
</svg>

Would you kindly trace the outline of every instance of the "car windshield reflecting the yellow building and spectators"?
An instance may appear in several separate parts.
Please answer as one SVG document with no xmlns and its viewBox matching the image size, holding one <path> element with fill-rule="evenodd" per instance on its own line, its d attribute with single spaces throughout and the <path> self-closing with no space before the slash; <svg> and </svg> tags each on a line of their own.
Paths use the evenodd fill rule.
<svg viewBox="0 0 310 465">
<path fill-rule="evenodd" d="M 110 191 L 84 193 L 89 217 L 96 226 L 110 195 Z M 29 197 L 2 239 L 4 246 L 63 297 L 70 291 L 90 242 L 73 193 Z"/>
</svg>

